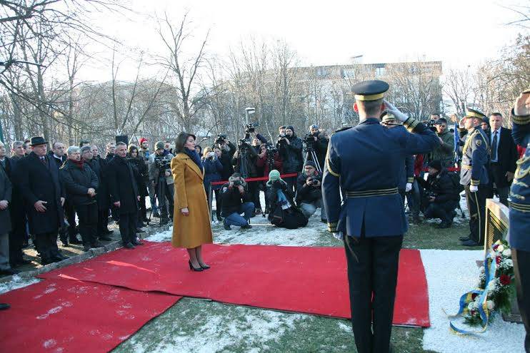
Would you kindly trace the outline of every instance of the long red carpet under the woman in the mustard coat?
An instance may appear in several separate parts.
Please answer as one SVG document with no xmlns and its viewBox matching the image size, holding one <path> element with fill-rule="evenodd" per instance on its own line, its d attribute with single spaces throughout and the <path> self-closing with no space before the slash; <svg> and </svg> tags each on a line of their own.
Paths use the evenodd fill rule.
<svg viewBox="0 0 530 353">
<path fill-rule="evenodd" d="M 186 250 L 146 242 L 45 273 L 139 290 L 201 297 L 236 305 L 349 318 L 344 249 L 206 245 L 212 266 L 191 272 Z M 429 327 L 429 296 L 418 250 L 401 250 L 394 324 Z"/>
</svg>

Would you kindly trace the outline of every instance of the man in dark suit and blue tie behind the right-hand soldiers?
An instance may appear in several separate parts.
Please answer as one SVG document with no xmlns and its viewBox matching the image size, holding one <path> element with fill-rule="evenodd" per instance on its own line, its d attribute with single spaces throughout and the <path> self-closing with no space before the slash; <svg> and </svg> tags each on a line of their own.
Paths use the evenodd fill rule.
<svg viewBox="0 0 530 353">
<path fill-rule="evenodd" d="M 491 114 L 489 125 L 491 131 L 486 132 L 491 146 L 488 198 L 493 198 L 495 185 L 499 200 L 508 207 L 508 193 L 516 169 L 517 146 L 511 137 L 511 130 L 502 127 L 501 113 Z"/>
</svg>

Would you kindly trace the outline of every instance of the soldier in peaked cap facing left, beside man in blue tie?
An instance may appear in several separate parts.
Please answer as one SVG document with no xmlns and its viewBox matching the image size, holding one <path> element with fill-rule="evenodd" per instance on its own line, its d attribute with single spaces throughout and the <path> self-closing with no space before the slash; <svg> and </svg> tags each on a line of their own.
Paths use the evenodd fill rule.
<svg viewBox="0 0 530 353">
<path fill-rule="evenodd" d="M 484 245 L 484 227 L 486 225 L 486 195 L 488 193 L 489 139 L 481 128 L 480 111 L 468 109 L 459 124 L 462 162 L 460 165 L 460 184 L 466 190 L 467 209 L 469 210 L 469 237 L 461 237 L 462 245 Z"/>
</svg>

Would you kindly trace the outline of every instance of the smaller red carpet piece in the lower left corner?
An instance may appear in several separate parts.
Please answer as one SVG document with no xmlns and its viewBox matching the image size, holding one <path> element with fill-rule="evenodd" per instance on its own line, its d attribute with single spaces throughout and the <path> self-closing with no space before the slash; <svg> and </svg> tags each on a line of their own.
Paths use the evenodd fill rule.
<svg viewBox="0 0 530 353">
<path fill-rule="evenodd" d="M 109 352 L 181 297 L 72 280 L 0 295 L 0 352 Z"/>
</svg>

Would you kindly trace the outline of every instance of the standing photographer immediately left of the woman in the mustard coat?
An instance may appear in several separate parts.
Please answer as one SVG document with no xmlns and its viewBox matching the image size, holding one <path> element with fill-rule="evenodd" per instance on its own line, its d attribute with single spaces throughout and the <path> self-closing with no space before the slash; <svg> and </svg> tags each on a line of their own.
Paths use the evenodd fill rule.
<svg viewBox="0 0 530 353">
<path fill-rule="evenodd" d="M 153 163 L 149 165 L 149 181 L 153 185 L 156 199 L 159 202 L 160 225 L 166 225 L 169 222 L 166 200 L 169 205 L 169 217 L 173 218 L 174 180 L 170 167 L 172 158 L 173 155 L 164 149 L 164 142 L 157 142 Z"/>
</svg>

